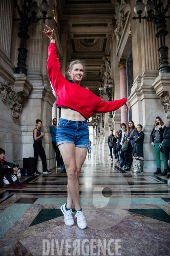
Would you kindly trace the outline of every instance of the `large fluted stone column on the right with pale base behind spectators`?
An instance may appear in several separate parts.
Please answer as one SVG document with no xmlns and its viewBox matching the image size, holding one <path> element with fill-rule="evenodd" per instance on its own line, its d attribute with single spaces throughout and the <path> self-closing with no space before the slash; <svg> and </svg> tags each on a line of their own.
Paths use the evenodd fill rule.
<svg viewBox="0 0 170 256">
<path fill-rule="evenodd" d="M 146 3 L 146 1 L 145 1 Z M 136 0 L 130 1 L 131 17 L 136 16 Z M 144 12 L 144 15 L 146 13 Z M 166 115 L 152 84 L 159 75 L 159 41 L 156 38 L 156 25 L 142 20 L 131 20 L 133 52 L 133 86 L 128 100 L 131 105 L 132 120 L 142 124 L 144 137 L 144 172 L 156 170 L 154 149 L 150 144 L 150 134 L 156 116 L 167 124 Z M 162 163 L 161 163 L 161 166 Z"/>
</svg>

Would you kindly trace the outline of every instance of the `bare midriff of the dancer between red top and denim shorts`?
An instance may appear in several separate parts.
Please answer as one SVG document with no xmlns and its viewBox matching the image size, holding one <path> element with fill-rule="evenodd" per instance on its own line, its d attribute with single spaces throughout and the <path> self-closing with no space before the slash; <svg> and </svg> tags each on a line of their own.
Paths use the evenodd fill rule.
<svg viewBox="0 0 170 256">
<path fill-rule="evenodd" d="M 84 121 L 86 120 L 85 117 L 70 108 L 61 108 L 61 118 L 71 120 L 71 121 Z"/>
</svg>

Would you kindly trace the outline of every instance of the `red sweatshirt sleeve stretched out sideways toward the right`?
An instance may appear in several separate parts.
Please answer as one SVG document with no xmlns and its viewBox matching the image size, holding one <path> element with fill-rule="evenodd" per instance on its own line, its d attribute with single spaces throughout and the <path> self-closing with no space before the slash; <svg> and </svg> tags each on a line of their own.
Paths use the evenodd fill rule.
<svg viewBox="0 0 170 256">
<path fill-rule="evenodd" d="M 117 99 L 109 102 L 106 102 L 105 100 L 101 99 L 94 113 L 106 113 L 110 111 L 115 111 L 121 108 L 126 102 L 127 102 L 127 99 L 125 98 Z"/>
</svg>

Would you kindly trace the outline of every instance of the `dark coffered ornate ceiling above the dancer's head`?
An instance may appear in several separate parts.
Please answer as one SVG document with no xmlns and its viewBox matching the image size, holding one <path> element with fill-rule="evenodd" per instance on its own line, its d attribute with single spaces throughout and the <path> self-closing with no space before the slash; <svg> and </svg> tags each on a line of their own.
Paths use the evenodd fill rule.
<svg viewBox="0 0 170 256">
<path fill-rule="evenodd" d="M 109 55 L 108 34 L 115 17 L 114 0 L 59 0 L 62 21 L 69 24 L 71 59 L 84 59 L 86 77 L 82 86 L 99 95 L 104 72 L 103 56 Z"/>
</svg>

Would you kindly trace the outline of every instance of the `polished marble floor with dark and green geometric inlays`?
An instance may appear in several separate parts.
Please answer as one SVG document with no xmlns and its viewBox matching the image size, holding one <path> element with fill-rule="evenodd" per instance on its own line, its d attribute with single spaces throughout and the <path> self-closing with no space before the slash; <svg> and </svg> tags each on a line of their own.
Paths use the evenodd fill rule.
<svg viewBox="0 0 170 256">
<path fill-rule="evenodd" d="M 71 227 L 64 223 L 60 207 L 67 198 L 67 175 L 62 170 L 22 176 L 23 189 L 0 188 L 0 255 L 170 255 L 167 179 L 120 171 L 94 148 L 86 157 L 79 178 L 85 230 L 76 219 Z"/>
</svg>

